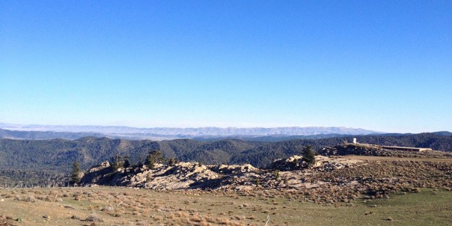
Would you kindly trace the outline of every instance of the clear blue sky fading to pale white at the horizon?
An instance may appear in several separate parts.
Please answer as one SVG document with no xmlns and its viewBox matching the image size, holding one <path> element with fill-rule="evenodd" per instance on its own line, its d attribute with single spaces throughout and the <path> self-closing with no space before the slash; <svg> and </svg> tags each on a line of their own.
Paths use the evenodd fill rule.
<svg viewBox="0 0 452 226">
<path fill-rule="evenodd" d="M 452 131 L 452 1 L 0 1 L 0 122 Z"/>
</svg>

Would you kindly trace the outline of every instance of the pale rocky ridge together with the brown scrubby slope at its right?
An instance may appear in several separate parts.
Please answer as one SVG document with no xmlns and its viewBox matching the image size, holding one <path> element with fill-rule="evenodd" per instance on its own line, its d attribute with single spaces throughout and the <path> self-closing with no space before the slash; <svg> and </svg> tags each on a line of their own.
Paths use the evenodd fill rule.
<svg viewBox="0 0 452 226">
<path fill-rule="evenodd" d="M 84 184 L 130 186 L 154 190 L 197 190 L 249 195 L 288 197 L 331 204 L 351 199 L 388 197 L 392 192 L 410 192 L 421 187 L 452 188 L 452 164 L 388 160 L 368 162 L 339 156 L 316 156 L 312 166 L 294 155 L 276 160 L 270 169 L 247 165 L 203 165 L 180 162 L 112 168 L 103 163 L 91 168 Z"/>
</svg>

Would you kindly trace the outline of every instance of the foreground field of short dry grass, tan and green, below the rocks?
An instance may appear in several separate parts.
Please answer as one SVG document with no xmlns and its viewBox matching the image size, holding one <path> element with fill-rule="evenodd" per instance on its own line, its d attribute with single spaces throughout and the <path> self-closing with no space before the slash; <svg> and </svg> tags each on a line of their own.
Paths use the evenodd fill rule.
<svg viewBox="0 0 452 226">
<path fill-rule="evenodd" d="M 334 206 L 222 192 L 0 190 L 0 225 L 452 225 L 451 216 L 452 192 L 431 188 Z"/>
</svg>

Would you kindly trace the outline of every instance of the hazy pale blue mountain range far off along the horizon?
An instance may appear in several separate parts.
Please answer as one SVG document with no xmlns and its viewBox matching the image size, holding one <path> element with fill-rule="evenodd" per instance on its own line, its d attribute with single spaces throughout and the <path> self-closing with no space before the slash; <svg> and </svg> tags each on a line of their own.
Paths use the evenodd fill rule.
<svg viewBox="0 0 452 226">
<path fill-rule="evenodd" d="M 123 138 L 129 140 L 172 140 L 175 138 L 256 138 L 256 137 L 286 137 L 286 136 L 318 136 L 337 135 L 368 135 L 381 132 L 347 127 L 199 127 L 199 128 L 136 128 L 122 126 L 91 126 L 91 125 L 17 125 L 0 123 L 0 138 L 12 139 L 77 139 L 84 136 Z"/>
</svg>

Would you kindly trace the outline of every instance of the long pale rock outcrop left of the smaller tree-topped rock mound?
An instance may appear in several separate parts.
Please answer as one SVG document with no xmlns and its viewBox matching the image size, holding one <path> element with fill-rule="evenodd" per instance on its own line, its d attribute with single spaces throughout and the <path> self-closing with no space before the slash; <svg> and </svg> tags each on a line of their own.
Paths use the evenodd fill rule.
<svg viewBox="0 0 452 226">
<path fill-rule="evenodd" d="M 91 168 L 81 179 L 84 184 L 108 186 L 131 186 L 155 190 L 218 188 L 223 180 L 234 179 L 244 173 L 257 173 L 260 169 L 245 165 L 203 165 L 193 162 L 179 162 L 173 166 L 155 164 L 147 166 L 118 168 L 112 171 L 109 164 Z"/>
</svg>

